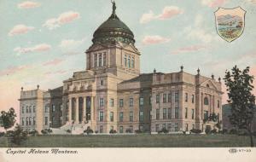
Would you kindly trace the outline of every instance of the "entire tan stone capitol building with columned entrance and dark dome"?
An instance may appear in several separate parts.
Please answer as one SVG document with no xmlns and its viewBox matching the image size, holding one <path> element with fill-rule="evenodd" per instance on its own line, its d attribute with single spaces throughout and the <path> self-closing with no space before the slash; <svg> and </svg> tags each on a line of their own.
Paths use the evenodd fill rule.
<svg viewBox="0 0 256 162">
<path fill-rule="evenodd" d="M 54 90 L 20 90 L 20 125 L 56 134 L 86 128 L 97 133 L 213 129 L 222 120 L 220 78 L 184 72 L 141 73 L 133 32 L 113 12 L 96 29 L 85 51 L 86 69 Z M 69 132 L 70 133 L 70 132 Z"/>
</svg>

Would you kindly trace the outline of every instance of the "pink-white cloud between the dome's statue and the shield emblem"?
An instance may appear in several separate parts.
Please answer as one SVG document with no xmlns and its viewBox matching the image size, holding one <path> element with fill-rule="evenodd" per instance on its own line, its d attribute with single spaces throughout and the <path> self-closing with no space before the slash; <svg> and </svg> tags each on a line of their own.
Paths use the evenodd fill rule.
<svg viewBox="0 0 256 162">
<path fill-rule="evenodd" d="M 151 20 L 166 20 L 171 19 L 173 16 L 176 16 L 177 14 L 183 14 L 183 10 L 179 9 L 177 6 L 166 6 L 161 14 L 155 15 L 152 10 L 150 10 L 148 13 L 143 14 L 143 16 L 140 19 L 141 24 L 148 23 Z"/>
</svg>

